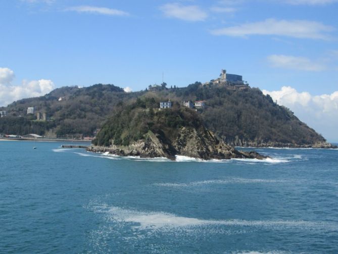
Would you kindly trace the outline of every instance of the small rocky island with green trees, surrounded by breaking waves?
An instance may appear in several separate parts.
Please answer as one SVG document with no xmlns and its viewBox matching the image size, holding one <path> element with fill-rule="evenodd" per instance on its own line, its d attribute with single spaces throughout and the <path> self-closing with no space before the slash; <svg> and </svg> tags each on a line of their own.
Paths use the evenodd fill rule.
<svg viewBox="0 0 338 254">
<path fill-rule="evenodd" d="M 257 158 L 254 151 L 237 151 L 207 130 L 200 115 L 174 103 L 172 108 L 159 109 L 154 98 L 137 99 L 121 105 L 104 124 L 91 152 L 109 152 L 120 156 L 142 158 L 176 155 L 210 159 Z"/>
</svg>

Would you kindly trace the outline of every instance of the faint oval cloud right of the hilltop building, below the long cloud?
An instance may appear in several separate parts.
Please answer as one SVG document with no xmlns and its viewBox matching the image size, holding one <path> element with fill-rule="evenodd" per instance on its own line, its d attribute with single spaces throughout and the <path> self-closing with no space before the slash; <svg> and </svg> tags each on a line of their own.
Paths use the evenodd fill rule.
<svg viewBox="0 0 338 254">
<path fill-rule="evenodd" d="M 326 69 L 323 63 L 310 60 L 306 57 L 271 55 L 267 57 L 267 60 L 273 67 L 279 68 L 305 71 L 322 71 Z"/>
</svg>

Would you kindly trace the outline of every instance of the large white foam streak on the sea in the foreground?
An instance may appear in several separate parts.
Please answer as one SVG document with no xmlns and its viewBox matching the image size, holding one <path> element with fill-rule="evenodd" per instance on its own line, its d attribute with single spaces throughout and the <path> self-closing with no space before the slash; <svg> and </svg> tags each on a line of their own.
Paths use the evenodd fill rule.
<svg viewBox="0 0 338 254">
<path fill-rule="evenodd" d="M 132 209 L 123 209 L 117 206 L 95 206 L 94 211 L 105 213 L 107 220 L 116 223 L 129 223 L 131 227 L 139 230 L 168 230 L 177 228 L 227 226 L 227 227 L 263 227 L 263 228 L 302 228 L 336 230 L 336 225 L 328 225 L 324 222 L 310 221 L 284 221 L 284 220 L 206 220 L 176 216 L 164 212 L 146 212 Z"/>
</svg>

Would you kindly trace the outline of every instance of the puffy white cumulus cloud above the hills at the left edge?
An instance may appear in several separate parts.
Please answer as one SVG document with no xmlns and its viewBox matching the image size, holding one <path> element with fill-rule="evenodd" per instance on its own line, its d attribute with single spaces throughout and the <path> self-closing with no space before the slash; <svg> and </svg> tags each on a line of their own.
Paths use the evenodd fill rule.
<svg viewBox="0 0 338 254">
<path fill-rule="evenodd" d="M 9 68 L 0 68 L 0 106 L 30 97 L 45 95 L 54 89 L 50 79 L 23 80 L 20 86 L 12 84 L 14 72 Z"/>
</svg>

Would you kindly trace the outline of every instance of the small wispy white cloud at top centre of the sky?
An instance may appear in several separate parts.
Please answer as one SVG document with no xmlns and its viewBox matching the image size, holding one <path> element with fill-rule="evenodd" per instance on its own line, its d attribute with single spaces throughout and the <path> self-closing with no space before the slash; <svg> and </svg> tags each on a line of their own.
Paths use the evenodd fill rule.
<svg viewBox="0 0 338 254">
<path fill-rule="evenodd" d="M 178 3 L 166 4 L 160 7 L 160 10 L 169 18 L 177 18 L 187 21 L 204 21 L 208 14 L 198 6 L 183 6 Z"/>
</svg>

